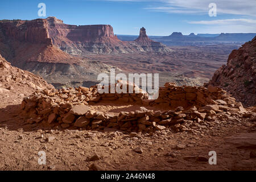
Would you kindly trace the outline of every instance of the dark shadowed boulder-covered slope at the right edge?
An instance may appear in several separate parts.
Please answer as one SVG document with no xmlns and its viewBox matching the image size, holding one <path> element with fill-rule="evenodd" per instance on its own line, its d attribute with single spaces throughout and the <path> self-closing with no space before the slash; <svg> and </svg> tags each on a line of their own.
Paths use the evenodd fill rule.
<svg viewBox="0 0 256 182">
<path fill-rule="evenodd" d="M 256 36 L 233 50 L 228 63 L 222 65 L 207 85 L 220 86 L 245 106 L 256 105 Z"/>
</svg>

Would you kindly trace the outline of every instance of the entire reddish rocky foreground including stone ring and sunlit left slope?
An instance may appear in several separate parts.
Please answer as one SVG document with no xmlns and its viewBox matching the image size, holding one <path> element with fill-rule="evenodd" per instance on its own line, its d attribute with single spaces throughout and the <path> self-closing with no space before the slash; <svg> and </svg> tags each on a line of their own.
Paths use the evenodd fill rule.
<svg viewBox="0 0 256 182">
<path fill-rule="evenodd" d="M 216 86 L 167 83 L 148 100 L 125 82 L 140 93 L 55 89 L 2 57 L 0 70 L 1 170 L 256 168 L 256 109 Z M 39 151 L 46 164 L 38 163 Z"/>
</svg>

